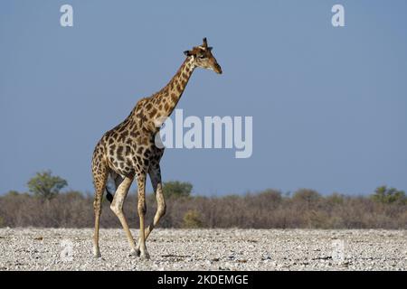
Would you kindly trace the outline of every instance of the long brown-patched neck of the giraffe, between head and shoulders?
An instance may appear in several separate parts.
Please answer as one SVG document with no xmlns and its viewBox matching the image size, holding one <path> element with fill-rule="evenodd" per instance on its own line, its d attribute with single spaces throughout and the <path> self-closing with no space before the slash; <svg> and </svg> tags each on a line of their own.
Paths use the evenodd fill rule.
<svg viewBox="0 0 407 289">
<path fill-rule="evenodd" d="M 156 117 L 169 117 L 182 97 L 186 84 L 194 72 L 194 59 L 187 57 L 175 76 L 151 98 Z"/>
</svg>

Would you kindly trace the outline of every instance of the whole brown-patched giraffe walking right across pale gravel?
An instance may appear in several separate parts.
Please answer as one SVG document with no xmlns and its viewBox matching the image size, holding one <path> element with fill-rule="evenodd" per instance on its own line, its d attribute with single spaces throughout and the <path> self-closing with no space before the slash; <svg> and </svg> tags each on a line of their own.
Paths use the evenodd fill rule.
<svg viewBox="0 0 407 289">
<path fill-rule="evenodd" d="M 93 255 L 95 257 L 100 257 L 99 218 L 103 193 L 107 191 L 110 209 L 118 217 L 128 238 L 129 256 L 149 259 L 146 239 L 158 224 L 159 219 L 166 214 L 166 201 L 162 190 L 160 169 L 164 148 L 156 146 L 155 136 L 166 117 L 169 117 L 175 109 L 195 68 L 200 67 L 222 74 L 221 66 L 213 57 L 212 47 L 208 46 L 206 38 L 204 38 L 202 45 L 195 46 L 192 50 L 184 53 L 185 61 L 166 87 L 149 98 L 140 99 L 128 117 L 118 126 L 106 132 L 96 144 L 91 163 L 95 187 L 95 200 L 93 202 L 95 213 Z M 147 174 L 156 193 L 157 209 L 154 219 L 146 228 Z M 106 187 L 109 177 L 116 185 L 114 196 L 109 193 Z M 137 246 L 123 214 L 123 203 L 135 178 L 138 196 L 137 212 L 140 220 Z"/>
</svg>

